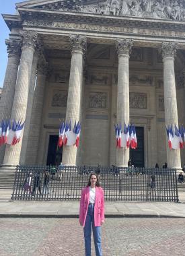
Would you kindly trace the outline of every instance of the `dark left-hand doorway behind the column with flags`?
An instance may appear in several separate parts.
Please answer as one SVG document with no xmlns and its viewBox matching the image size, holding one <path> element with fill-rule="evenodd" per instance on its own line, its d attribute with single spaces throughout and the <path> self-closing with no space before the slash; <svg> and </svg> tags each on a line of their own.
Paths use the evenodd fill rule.
<svg viewBox="0 0 185 256">
<path fill-rule="evenodd" d="M 59 165 L 62 162 L 63 147 L 59 148 L 57 146 L 58 140 L 59 135 L 50 135 L 46 163 L 47 165 Z"/>
</svg>

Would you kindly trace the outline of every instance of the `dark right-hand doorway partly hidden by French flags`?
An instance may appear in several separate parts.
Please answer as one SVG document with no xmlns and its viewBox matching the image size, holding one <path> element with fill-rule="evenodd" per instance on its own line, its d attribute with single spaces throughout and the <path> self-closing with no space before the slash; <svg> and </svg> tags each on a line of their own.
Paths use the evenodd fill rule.
<svg viewBox="0 0 185 256">
<path fill-rule="evenodd" d="M 144 160 L 144 128 L 135 127 L 137 135 L 137 149 L 130 149 L 131 163 L 135 167 L 145 167 Z"/>
</svg>

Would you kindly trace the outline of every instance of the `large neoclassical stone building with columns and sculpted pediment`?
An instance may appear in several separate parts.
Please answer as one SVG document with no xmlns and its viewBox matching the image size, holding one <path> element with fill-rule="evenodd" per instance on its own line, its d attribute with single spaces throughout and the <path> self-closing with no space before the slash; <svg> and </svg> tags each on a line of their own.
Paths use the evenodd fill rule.
<svg viewBox="0 0 185 256">
<path fill-rule="evenodd" d="M 165 125 L 185 124 L 185 1 L 30 0 L 3 14 L 11 31 L 0 118 L 26 119 L 0 163 L 135 166 L 168 162 Z M 61 121 L 81 121 L 79 148 L 57 149 Z M 139 147 L 116 149 L 114 123 Z"/>
</svg>

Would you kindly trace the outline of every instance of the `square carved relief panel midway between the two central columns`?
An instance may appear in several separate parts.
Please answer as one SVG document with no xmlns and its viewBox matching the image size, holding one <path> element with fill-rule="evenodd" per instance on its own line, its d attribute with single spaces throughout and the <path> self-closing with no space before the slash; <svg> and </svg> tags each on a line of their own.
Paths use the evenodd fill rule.
<svg viewBox="0 0 185 256">
<path fill-rule="evenodd" d="M 89 108 L 107 108 L 106 92 L 90 92 Z"/>
</svg>

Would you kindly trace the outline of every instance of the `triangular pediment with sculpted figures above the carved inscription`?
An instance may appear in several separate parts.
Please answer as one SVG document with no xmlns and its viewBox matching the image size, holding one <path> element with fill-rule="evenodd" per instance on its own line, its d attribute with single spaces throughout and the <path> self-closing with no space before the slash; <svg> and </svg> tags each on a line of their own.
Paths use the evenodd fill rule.
<svg viewBox="0 0 185 256">
<path fill-rule="evenodd" d="M 30 0 L 16 6 L 185 22 L 185 1 L 182 0 Z"/>
</svg>

